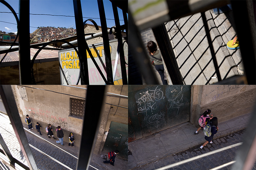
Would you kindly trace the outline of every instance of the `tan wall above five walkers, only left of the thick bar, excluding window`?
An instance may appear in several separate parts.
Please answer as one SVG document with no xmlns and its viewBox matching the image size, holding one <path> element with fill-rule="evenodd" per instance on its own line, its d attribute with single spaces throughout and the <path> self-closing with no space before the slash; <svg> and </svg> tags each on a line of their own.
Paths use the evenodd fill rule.
<svg viewBox="0 0 256 170">
<path fill-rule="evenodd" d="M 69 116 L 69 98 L 85 98 L 86 90 L 60 85 L 27 86 L 12 86 L 22 123 L 25 123 L 26 115 L 29 115 L 34 125 L 36 122 L 50 123 L 52 127 L 61 126 L 65 130 L 81 134 L 83 120 Z M 36 87 L 38 89 L 29 87 Z"/>
</svg>

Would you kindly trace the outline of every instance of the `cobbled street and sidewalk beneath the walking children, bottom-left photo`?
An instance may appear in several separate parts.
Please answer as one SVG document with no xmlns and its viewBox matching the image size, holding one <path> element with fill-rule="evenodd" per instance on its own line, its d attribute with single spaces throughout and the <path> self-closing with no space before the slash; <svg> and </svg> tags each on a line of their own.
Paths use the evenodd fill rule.
<svg viewBox="0 0 256 170">
<path fill-rule="evenodd" d="M 2 102 L 0 102 L 1 104 Z M 3 108 L 1 109 L 2 112 Z M 9 117 L 5 114 L 0 113 L 0 118 L 3 119 L 3 123 L 1 123 L 0 125 L 0 134 L 2 135 L 2 137 L 4 138 L 5 143 L 7 144 L 10 152 L 12 153 L 12 156 L 15 157 L 16 159 L 20 160 L 21 162 L 23 162 L 24 164 L 28 165 L 25 157 L 22 154 L 22 151 L 20 149 L 20 144 L 17 140 L 17 137 L 15 135 L 15 132 L 12 128 L 12 125 L 10 124 L 10 120 Z M 26 136 L 28 138 L 28 143 L 35 146 L 37 149 L 43 151 L 44 153 L 52 156 L 52 158 L 59 160 L 60 162 L 64 163 L 65 165 L 67 165 L 68 167 L 72 168 L 72 169 L 76 169 L 76 161 L 77 159 L 70 156 L 69 154 L 61 151 L 60 149 L 54 147 L 52 144 L 57 145 L 58 147 L 60 147 L 61 149 L 71 153 L 72 155 L 78 157 L 78 152 L 79 152 L 79 145 L 80 145 L 80 136 L 75 134 L 75 143 L 74 146 L 75 147 L 69 147 L 68 146 L 68 139 L 65 139 L 65 137 L 67 137 L 69 135 L 69 132 L 65 131 L 65 127 L 63 127 L 63 132 L 64 132 L 64 146 L 60 145 L 60 144 L 56 144 L 56 140 L 52 138 L 51 139 L 48 138 L 47 133 L 45 131 L 46 124 L 45 123 L 40 123 L 42 128 L 41 133 L 42 136 L 39 135 L 39 132 L 36 131 L 35 129 L 35 122 L 33 122 L 33 128 L 31 129 L 31 131 L 27 131 L 26 132 Z M 26 124 L 23 123 L 23 127 L 28 129 L 28 126 Z M 56 127 L 54 127 L 54 130 L 56 130 Z M 30 133 L 31 132 L 31 133 Z M 33 135 L 32 133 L 44 138 L 45 140 L 51 142 L 52 144 L 47 143 L 46 141 L 36 137 L 35 135 Z M 53 131 L 54 137 L 57 138 L 56 135 L 56 131 Z M 58 139 L 58 138 L 57 138 Z M 31 147 L 30 147 L 31 148 Z M 51 160 L 50 158 L 48 158 L 47 156 L 44 156 L 43 154 L 41 154 L 40 152 L 36 151 L 35 149 L 31 148 L 32 154 L 34 156 L 34 159 L 36 161 L 36 165 L 37 168 L 44 170 L 44 169 L 67 169 L 61 165 L 59 165 L 57 162 Z M 127 169 L 127 160 L 123 160 L 118 158 L 118 156 L 115 159 L 115 166 L 112 166 L 110 164 L 104 164 L 103 161 L 104 159 L 101 158 L 102 155 L 107 155 L 107 153 L 102 153 L 99 155 L 92 155 L 92 159 L 90 161 L 90 165 L 92 165 L 93 167 L 96 167 L 97 169 L 106 169 L 106 170 L 110 170 L 110 169 Z M 94 169 L 92 167 L 90 167 L 89 169 Z"/>
</svg>

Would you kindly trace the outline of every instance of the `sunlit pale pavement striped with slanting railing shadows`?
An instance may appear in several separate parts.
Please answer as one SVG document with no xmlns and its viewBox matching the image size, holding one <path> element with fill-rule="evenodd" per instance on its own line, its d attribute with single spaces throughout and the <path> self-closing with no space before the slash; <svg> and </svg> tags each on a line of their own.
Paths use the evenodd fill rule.
<svg viewBox="0 0 256 170">
<path fill-rule="evenodd" d="M 233 40 L 232 11 L 215 15 L 206 11 L 212 45 L 221 78 L 239 75 L 237 65 L 241 62 L 240 49 L 229 50 L 227 42 Z M 201 13 L 169 21 L 166 24 L 181 75 L 187 85 L 213 84 L 218 81 L 212 55 L 206 38 Z"/>
</svg>

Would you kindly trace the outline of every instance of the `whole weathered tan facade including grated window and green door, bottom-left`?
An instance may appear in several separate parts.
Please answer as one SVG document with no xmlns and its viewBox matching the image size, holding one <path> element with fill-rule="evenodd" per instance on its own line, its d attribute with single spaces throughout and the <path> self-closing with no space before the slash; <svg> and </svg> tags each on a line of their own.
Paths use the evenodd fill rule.
<svg viewBox="0 0 256 170">
<path fill-rule="evenodd" d="M 76 87 L 86 88 L 85 85 L 13 85 L 12 91 L 21 122 L 25 123 L 25 117 L 29 115 L 34 125 L 39 122 L 45 128 L 50 123 L 54 128 L 61 126 L 63 130 L 73 132 L 76 136 L 81 135 L 83 123 L 90 122 L 86 119 L 86 114 L 93 113 L 84 115 L 87 90 Z M 106 154 L 118 149 L 119 157 L 127 160 L 128 97 L 125 96 L 128 96 L 128 89 L 127 86 L 108 85 L 106 92 L 113 94 L 105 95 L 94 153 Z"/>
</svg>

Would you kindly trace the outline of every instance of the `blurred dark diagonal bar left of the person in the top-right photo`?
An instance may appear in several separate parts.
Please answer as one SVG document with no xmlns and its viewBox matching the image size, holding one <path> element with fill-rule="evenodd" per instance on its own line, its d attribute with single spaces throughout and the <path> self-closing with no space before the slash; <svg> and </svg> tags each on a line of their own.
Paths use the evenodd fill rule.
<svg viewBox="0 0 256 170">
<path fill-rule="evenodd" d="M 151 63 L 149 61 L 149 58 L 147 56 L 145 47 L 142 43 L 140 32 L 139 32 L 138 28 L 135 26 L 135 23 L 133 21 L 130 11 L 128 11 L 128 18 L 129 18 L 129 20 L 128 20 L 128 25 L 129 25 L 129 27 L 128 27 L 128 33 L 129 33 L 128 47 L 129 47 L 129 50 L 131 50 L 132 58 L 136 63 L 135 67 L 140 70 L 140 73 L 142 74 L 143 78 L 145 79 L 145 82 L 147 85 L 159 85 L 159 83 L 157 82 L 157 79 L 156 79 L 156 75 L 155 75 L 155 73 L 152 69 Z M 136 74 L 136 70 L 133 68 L 131 63 L 128 65 L 128 71 L 130 73 L 129 79 L 132 77 L 135 77 L 133 75 Z M 139 78 L 137 77 L 136 79 L 139 79 Z M 139 80 L 139 81 L 141 81 L 141 80 Z M 131 82 L 131 81 L 129 81 L 129 82 Z"/>
</svg>

